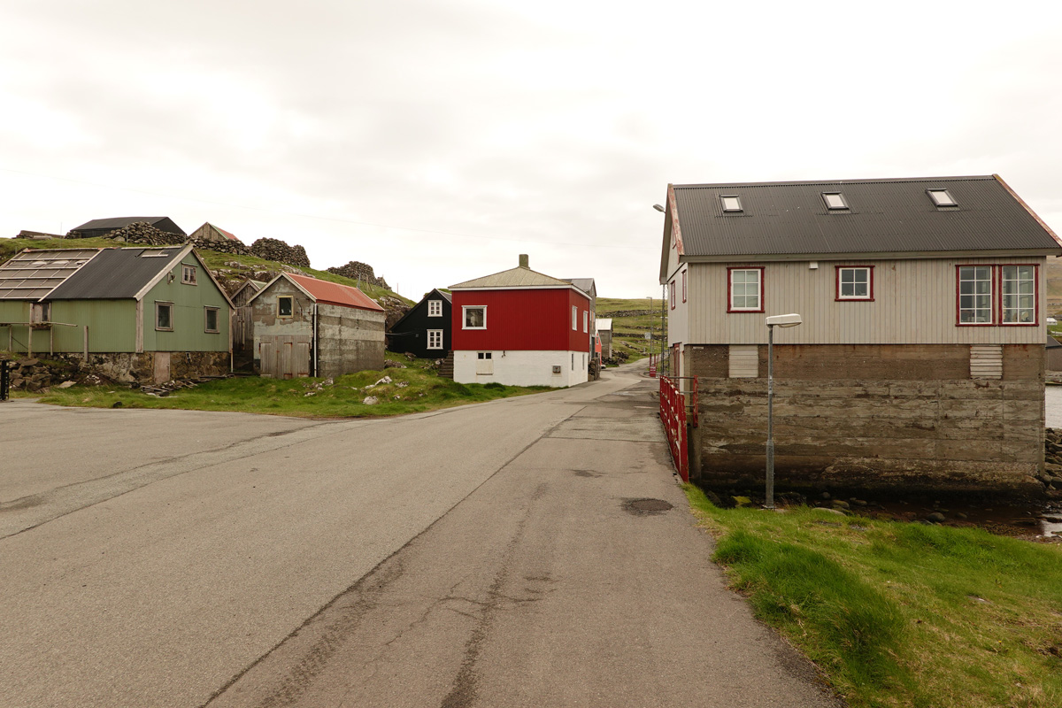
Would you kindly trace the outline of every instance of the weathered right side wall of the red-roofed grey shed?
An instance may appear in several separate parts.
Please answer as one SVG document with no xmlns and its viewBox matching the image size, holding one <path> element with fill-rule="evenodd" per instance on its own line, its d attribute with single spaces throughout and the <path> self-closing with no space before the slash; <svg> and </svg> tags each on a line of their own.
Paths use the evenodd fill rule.
<svg viewBox="0 0 1062 708">
<path fill-rule="evenodd" d="M 318 376 L 383 368 L 386 312 L 318 305 Z"/>
</svg>

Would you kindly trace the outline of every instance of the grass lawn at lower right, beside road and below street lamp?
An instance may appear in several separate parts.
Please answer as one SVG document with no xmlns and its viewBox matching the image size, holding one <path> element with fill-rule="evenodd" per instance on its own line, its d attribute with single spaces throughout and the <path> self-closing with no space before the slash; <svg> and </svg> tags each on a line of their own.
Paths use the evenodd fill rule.
<svg viewBox="0 0 1062 708">
<path fill-rule="evenodd" d="M 1062 706 L 1062 546 L 686 495 L 732 586 L 851 706 Z"/>
</svg>

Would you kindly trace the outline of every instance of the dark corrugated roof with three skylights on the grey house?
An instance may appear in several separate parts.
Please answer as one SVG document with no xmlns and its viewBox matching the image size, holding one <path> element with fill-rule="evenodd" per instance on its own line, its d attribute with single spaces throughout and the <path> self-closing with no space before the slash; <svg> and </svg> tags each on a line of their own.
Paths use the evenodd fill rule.
<svg viewBox="0 0 1062 708">
<path fill-rule="evenodd" d="M 926 190 L 946 189 L 956 207 Z M 823 192 L 840 192 L 833 211 Z M 723 212 L 721 196 L 741 200 Z M 975 252 L 1062 247 L 995 176 L 674 185 L 686 256 Z"/>
</svg>

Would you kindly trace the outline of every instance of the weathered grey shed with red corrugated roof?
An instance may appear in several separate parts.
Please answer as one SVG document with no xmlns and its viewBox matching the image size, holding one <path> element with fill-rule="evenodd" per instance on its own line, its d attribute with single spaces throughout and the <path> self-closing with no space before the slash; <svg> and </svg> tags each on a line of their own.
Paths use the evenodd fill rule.
<svg viewBox="0 0 1062 708">
<path fill-rule="evenodd" d="M 281 273 L 249 306 L 255 366 L 290 379 L 383 368 L 383 308 L 353 286 Z"/>
</svg>

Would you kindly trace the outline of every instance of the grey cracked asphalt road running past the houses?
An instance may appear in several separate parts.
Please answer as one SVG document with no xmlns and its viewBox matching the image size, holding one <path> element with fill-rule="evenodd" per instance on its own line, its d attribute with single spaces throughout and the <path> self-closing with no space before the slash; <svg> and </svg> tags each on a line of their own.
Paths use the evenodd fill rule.
<svg viewBox="0 0 1062 708">
<path fill-rule="evenodd" d="M 834 705 L 724 589 L 651 387 L 369 421 L 0 403 L 0 705 Z"/>
</svg>

